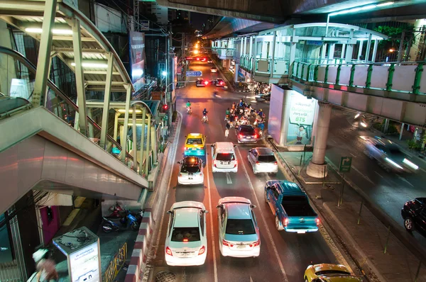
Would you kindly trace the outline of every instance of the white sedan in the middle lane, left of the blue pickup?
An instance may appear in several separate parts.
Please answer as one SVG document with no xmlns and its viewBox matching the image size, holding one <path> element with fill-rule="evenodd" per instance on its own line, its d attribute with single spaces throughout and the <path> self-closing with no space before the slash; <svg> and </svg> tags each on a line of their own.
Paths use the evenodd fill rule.
<svg viewBox="0 0 426 282">
<path fill-rule="evenodd" d="M 219 250 L 222 256 L 257 257 L 261 254 L 261 235 L 251 201 L 225 197 L 217 205 Z"/>
</svg>

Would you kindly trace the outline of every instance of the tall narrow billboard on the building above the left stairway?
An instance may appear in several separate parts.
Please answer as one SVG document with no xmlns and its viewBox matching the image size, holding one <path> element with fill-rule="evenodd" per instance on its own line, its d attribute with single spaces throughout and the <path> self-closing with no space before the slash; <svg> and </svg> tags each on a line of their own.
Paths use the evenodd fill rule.
<svg viewBox="0 0 426 282">
<path fill-rule="evenodd" d="M 145 83 L 145 33 L 129 31 L 131 82 L 135 91 Z"/>
</svg>

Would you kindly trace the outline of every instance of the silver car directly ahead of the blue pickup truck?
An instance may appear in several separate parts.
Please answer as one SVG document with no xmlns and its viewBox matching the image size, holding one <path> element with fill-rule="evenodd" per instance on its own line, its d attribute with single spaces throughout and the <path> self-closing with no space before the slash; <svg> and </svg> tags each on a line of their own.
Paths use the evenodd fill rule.
<svg viewBox="0 0 426 282">
<path fill-rule="evenodd" d="M 278 172 L 278 162 L 269 148 L 253 148 L 247 154 L 247 159 L 249 159 L 254 174 L 258 172 L 276 174 Z"/>
</svg>

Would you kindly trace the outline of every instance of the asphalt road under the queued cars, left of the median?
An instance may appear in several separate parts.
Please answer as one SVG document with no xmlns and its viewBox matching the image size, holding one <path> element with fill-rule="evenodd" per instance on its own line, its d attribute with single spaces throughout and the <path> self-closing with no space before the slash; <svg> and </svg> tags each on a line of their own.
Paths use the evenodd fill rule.
<svg viewBox="0 0 426 282">
<path fill-rule="evenodd" d="M 192 63 L 191 69 L 201 70 L 204 79 L 214 79 L 220 74 L 210 73 L 211 64 Z M 247 152 L 251 147 L 258 145 L 238 145 L 236 155 L 239 159 L 239 171 L 236 174 L 215 173 L 211 171 L 211 156 L 209 145 L 217 141 L 236 142 L 234 130 L 229 132 L 229 137 L 224 137 L 224 113 L 233 101 L 246 94 L 236 94 L 218 89 L 220 97 L 213 97 L 214 86 L 196 87 L 194 84 L 177 91 L 177 108 L 182 113 L 182 127 L 178 140 L 178 150 L 174 162 L 173 173 L 168 195 L 165 199 L 165 211 L 177 201 L 200 201 L 204 203 L 210 213 L 207 214 L 207 260 L 203 266 L 175 267 L 167 266 L 164 260 L 164 242 L 168 225 L 168 215 L 165 214 L 160 225 L 158 249 L 153 260 L 155 269 L 173 271 L 180 281 L 302 281 L 303 273 L 309 264 L 337 263 L 327 242 L 320 232 L 298 235 L 278 232 L 271 210 L 263 201 L 263 186 L 270 179 L 267 174 L 254 175 Z M 253 94 L 247 94 L 252 96 Z M 192 115 L 187 115 L 185 103 L 192 103 Z M 249 97 L 246 98 L 247 101 Z M 254 108 L 263 108 L 268 116 L 268 104 L 253 103 Z M 201 123 L 202 110 L 209 111 L 209 123 Z M 207 135 L 207 165 L 204 168 L 204 185 L 178 186 L 178 160 L 183 157 L 185 135 L 191 132 L 200 132 Z M 285 179 L 281 171 L 276 179 Z M 226 196 L 243 196 L 249 198 L 257 205 L 255 209 L 261 231 L 261 255 L 257 259 L 236 259 L 223 257 L 218 247 L 217 210 L 219 198 Z"/>
</svg>

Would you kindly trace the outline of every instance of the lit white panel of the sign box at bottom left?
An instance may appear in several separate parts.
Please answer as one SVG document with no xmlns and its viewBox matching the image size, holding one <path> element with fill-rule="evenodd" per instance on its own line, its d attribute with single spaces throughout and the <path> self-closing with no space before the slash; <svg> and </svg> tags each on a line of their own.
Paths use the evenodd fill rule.
<svg viewBox="0 0 426 282">
<path fill-rule="evenodd" d="M 72 282 L 99 282 L 98 243 L 87 245 L 70 254 Z"/>
</svg>

